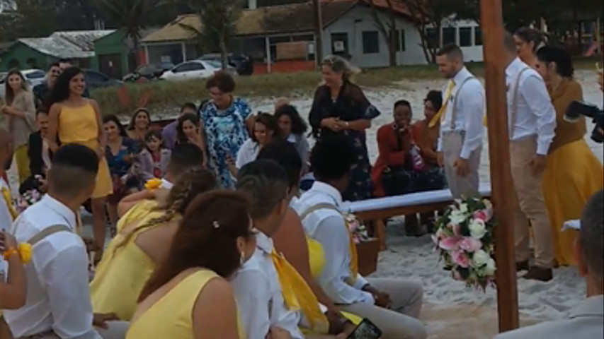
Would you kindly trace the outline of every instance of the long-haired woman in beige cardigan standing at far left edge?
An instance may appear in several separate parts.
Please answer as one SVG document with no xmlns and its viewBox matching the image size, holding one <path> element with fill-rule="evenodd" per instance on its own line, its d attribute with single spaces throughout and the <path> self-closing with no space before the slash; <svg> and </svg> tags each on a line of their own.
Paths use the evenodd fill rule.
<svg viewBox="0 0 604 339">
<path fill-rule="evenodd" d="M 23 74 L 17 69 L 8 71 L 4 85 L 6 105 L 0 106 L 0 113 L 6 116 L 6 126 L 13 136 L 19 183 L 23 183 L 30 176 L 28 140 L 29 135 L 37 129 L 35 103 Z"/>
</svg>

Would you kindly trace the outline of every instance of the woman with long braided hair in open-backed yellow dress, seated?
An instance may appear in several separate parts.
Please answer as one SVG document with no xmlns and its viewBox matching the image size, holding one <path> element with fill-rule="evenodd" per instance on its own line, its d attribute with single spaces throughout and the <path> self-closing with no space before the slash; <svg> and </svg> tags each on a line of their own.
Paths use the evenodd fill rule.
<svg viewBox="0 0 604 339">
<path fill-rule="evenodd" d="M 216 186 L 211 172 L 190 169 L 167 198 L 162 199 L 158 193 L 156 199 L 138 203 L 120 218 L 118 234 L 109 243 L 90 283 L 93 311 L 115 313 L 122 321 L 132 319 L 142 287 L 157 263 L 168 255 L 181 215 L 196 196 Z"/>
</svg>

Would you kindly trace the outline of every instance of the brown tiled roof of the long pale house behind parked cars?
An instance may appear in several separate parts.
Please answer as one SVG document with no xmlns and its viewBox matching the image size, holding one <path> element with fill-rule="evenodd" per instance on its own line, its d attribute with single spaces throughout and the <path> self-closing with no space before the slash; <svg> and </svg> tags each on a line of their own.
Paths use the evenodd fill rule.
<svg viewBox="0 0 604 339">
<path fill-rule="evenodd" d="M 358 4 L 367 4 L 366 1 L 377 1 L 380 8 L 388 8 L 387 0 L 321 0 L 321 15 L 323 25 L 327 27 L 335 20 L 343 16 Z M 394 1 L 393 4 L 401 4 Z M 406 7 L 395 7 L 395 11 L 409 16 Z M 183 27 L 184 26 L 184 27 Z M 195 37 L 195 32 L 186 28 L 190 26 L 195 30 L 201 30 L 202 24 L 196 14 L 178 16 L 168 25 L 160 30 L 147 35 L 142 42 L 171 42 L 185 41 Z M 287 4 L 280 6 L 269 6 L 241 11 L 237 20 L 237 36 L 270 35 L 292 32 L 314 31 L 314 11 L 312 2 L 302 4 Z"/>
</svg>

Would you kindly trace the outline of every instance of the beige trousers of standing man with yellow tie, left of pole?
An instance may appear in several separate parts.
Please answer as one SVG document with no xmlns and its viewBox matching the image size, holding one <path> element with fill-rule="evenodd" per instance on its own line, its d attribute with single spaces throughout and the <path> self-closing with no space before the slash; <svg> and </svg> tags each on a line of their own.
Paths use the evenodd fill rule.
<svg viewBox="0 0 604 339">
<path fill-rule="evenodd" d="M 462 178 L 455 174 L 453 165 L 462 153 L 464 136 L 462 132 L 445 132 L 443 133 L 443 157 L 445 160 L 445 177 L 453 198 L 461 198 L 462 196 L 480 196 L 478 170 L 480 167 L 480 155 L 482 153 L 482 145 L 470 153 L 469 166 L 470 172 L 467 177 Z"/>
</svg>

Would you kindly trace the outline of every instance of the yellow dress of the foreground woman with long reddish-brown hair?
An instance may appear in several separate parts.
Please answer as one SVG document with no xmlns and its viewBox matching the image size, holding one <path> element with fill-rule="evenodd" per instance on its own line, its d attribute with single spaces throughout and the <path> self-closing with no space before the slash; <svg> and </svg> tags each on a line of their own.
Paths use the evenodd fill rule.
<svg viewBox="0 0 604 339">
<path fill-rule="evenodd" d="M 217 277 L 211 270 L 191 273 L 132 322 L 126 339 L 193 339 L 191 318 L 195 301 L 203 287 Z M 245 339 L 238 327 L 239 338 Z"/>
</svg>

